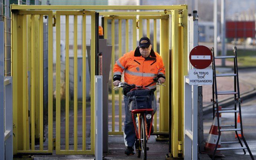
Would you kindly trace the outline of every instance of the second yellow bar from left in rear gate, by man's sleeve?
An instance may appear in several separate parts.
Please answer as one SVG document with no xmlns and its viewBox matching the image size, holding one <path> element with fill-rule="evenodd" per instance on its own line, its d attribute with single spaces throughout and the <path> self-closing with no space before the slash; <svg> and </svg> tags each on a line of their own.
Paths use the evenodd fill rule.
<svg viewBox="0 0 256 160">
<path fill-rule="evenodd" d="M 111 21 L 111 39 L 112 39 L 112 77 L 113 77 L 113 68 L 115 64 L 115 19 Z M 113 80 L 112 80 L 113 81 Z M 112 132 L 115 131 L 115 90 L 113 89 L 112 83 Z"/>
</svg>

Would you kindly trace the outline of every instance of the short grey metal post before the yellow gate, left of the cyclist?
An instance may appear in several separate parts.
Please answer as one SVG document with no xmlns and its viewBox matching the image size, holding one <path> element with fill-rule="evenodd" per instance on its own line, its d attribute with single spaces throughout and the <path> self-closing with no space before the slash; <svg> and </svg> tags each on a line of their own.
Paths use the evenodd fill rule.
<svg viewBox="0 0 256 160">
<path fill-rule="evenodd" d="M 95 76 L 95 160 L 102 160 L 102 76 Z"/>
</svg>

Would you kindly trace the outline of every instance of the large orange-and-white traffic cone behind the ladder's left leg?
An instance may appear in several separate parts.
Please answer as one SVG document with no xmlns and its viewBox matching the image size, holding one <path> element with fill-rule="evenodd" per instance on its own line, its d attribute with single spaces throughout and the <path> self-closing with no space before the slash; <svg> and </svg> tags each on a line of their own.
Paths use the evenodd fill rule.
<svg viewBox="0 0 256 160">
<path fill-rule="evenodd" d="M 221 106 L 218 107 L 218 110 L 221 111 Z M 219 113 L 219 115 L 220 115 L 219 122 L 221 125 L 221 113 Z M 211 129 L 209 131 L 208 138 L 205 141 L 205 146 L 204 146 L 205 153 L 209 155 L 213 154 L 215 146 L 217 144 L 217 140 L 218 140 L 218 119 L 217 119 L 217 113 L 216 113 L 214 120 L 212 122 Z M 220 137 L 217 148 L 220 148 L 220 144 L 221 144 L 221 137 Z M 220 151 L 216 151 L 215 156 L 225 157 Z"/>
</svg>

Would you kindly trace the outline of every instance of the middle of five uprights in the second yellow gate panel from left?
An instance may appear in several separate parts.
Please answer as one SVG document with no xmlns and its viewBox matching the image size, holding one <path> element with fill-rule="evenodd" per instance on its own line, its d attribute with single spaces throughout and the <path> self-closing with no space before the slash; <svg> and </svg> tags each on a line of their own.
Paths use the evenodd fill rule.
<svg viewBox="0 0 256 160">
<path fill-rule="evenodd" d="M 74 150 L 77 150 L 77 15 L 74 15 Z"/>
</svg>

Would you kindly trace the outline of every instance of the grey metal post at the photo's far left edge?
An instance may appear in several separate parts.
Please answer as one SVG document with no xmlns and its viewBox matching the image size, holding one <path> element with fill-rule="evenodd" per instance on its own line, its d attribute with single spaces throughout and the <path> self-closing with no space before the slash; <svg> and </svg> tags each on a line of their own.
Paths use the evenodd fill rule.
<svg viewBox="0 0 256 160">
<path fill-rule="evenodd" d="M 0 22 L 0 159 L 4 160 L 4 22 Z"/>
</svg>

